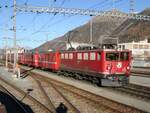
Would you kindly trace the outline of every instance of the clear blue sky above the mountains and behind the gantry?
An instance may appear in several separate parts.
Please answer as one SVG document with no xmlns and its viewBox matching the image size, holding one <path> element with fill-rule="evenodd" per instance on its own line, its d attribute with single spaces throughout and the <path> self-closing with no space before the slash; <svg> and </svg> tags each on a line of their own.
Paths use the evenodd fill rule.
<svg viewBox="0 0 150 113">
<path fill-rule="evenodd" d="M 56 2 L 54 2 L 56 1 Z M 113 2 L 115 1 L 115 2 Z M 113 7 L 129 12 L 129 0 L 17 0 L 17 5 L 86 8 L 94 10 L 111 10 Z M 13 0 L 0 1 L 0 48 L 4 47 L 3 37 L 13 38 L 10 30 L 13 26 Z M 8 6 L 8 7 L 7 7 Z M 135 0 L 135 11 L 150 8 L 150 0 Z M 90 16 L 36 14 L 17 12 L 17 44 L 22 47 L 35 48 L 47 40 L 64 35 L 66 32 L 87 23 Z M 12 46 L 12 39 L 8 41 Z"/>
</svg>

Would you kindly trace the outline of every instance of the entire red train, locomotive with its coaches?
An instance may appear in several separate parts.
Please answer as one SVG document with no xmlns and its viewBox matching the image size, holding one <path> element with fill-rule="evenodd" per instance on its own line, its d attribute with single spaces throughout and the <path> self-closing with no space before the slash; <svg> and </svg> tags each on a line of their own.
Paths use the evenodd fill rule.
<svg viewBox="0 0 150 113">
<path fill-rule="evenodd" d="M 28 52 L 18 55 L 18 63 L 56 71 L 59 75 L 84 79 L 99 86 L 128 84 L 131 51 L 117 49 Z"/>
</svg>

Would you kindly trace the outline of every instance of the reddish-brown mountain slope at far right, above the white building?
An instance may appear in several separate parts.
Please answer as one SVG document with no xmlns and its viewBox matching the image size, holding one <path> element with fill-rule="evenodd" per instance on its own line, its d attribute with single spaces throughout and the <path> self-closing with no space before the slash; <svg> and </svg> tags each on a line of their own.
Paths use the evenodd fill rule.
<svg viewBox="0 0 150 113">
<path fill-rule="evenodd" d="M 150 16 L 150 8 L 139 14 Z M 150 38 L 150 21 L 128 19 L 112 35 L 119 37 L 119 42 L 136 42 Z"/>
</svg>

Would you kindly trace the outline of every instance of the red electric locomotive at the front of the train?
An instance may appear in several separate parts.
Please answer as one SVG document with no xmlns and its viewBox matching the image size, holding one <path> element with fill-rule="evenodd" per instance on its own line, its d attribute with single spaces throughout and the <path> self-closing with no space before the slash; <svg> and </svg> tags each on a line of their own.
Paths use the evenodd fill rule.
<svg viewBox="0 0 150 113">
<path fill-rule="evenodd" d="M 77 78 L 103 85 L 128 82 L 131 52 L 128 50 L 78 50 L 61 52 L 61 70 Z M 105 84 L 109 83 L 109 84 Z"/>
</svg>

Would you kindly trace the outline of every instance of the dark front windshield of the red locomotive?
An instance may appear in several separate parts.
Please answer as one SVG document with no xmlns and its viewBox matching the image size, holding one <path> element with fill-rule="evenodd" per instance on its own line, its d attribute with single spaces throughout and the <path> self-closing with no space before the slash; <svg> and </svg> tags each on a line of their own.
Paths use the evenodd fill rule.
<svg viewBox="0 0 150 113">
<path fill-rule="evenodd" d="M 107 61 L 120 61 L 120 60 L 128 60 L 129 53 L 128 52 L 115 52 L 115 53 L 106 53 L 106 60 Z"/>
</svg>

